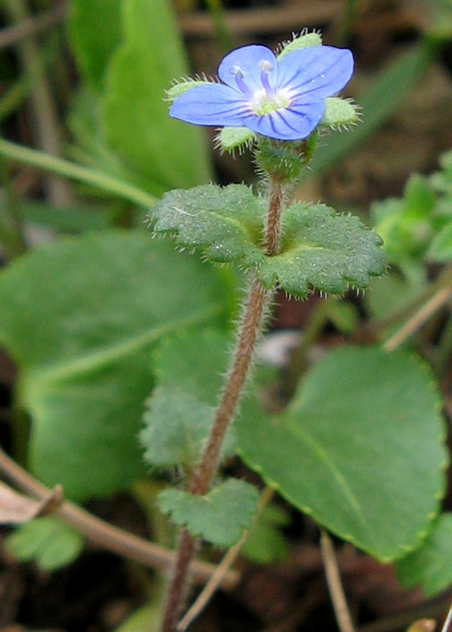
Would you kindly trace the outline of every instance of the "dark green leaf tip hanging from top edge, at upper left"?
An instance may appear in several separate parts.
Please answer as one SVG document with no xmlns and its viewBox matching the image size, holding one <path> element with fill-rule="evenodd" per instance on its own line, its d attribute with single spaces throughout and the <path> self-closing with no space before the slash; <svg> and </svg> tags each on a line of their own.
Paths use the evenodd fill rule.
<svg viewBox="0 0 452 632">
<path fill-rule="evenodd" d="M 82 76 L 100 90 L 121 39 L 122 0 L 70 0 L 67 29 Z"/>
</svg>

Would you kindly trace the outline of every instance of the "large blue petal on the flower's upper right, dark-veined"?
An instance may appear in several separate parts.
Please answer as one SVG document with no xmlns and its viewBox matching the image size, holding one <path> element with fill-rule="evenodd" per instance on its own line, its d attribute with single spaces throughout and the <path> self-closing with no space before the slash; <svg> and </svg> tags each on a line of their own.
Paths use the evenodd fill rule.
<svg viewBox="0 0 452 632">
<path fill-rule="evenodd" d="M 287 88 L 295 93 L 298 103 L 311 103 L 342 90 L 353 73 L 353 67 L 353 55 L 347 48 L 302 48 L 280 60 L 278 88 Z"/>
</svg>

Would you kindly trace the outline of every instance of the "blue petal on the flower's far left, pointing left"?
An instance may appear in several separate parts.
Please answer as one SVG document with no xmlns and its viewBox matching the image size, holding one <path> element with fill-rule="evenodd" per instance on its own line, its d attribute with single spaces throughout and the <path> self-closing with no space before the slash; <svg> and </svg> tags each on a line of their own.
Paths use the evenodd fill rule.
<svg viewBox="0 0 452 632">
<path fill-rule="evenodd" d="M 229 86 L 209 84 L 181 95 L 169 108 L 169 116 L 195 125 L 242 126 L 250 112 L 247 101 Z"/>
</svg>

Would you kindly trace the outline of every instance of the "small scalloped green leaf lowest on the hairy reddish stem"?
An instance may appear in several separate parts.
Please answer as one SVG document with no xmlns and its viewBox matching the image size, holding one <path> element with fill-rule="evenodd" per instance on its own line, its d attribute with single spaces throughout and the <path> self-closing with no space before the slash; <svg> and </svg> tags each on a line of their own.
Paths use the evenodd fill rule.
<svg viewBox="0 0 452 632">
<path fill-rule="evenodd" d="M 185 526 L 193 536 L 202 536 L 217 546 L 232 546 L 252 525 L 259 492 L 243 480 L 229 478 L 206 496 L 192 496 L 181 489 L 159 494 L 160 509 L 176 525 Z"/>
</svg>

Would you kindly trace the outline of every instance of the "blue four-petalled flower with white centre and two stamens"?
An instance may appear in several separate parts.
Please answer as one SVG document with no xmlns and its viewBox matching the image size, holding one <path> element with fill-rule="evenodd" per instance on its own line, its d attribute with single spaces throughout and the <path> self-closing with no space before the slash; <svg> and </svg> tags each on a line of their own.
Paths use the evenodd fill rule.
<svg viewBox="0 0 452 632">
<path fill-rule="evenodd" d="M 219 65 L 221 84 L 191 88 L 169 114 L 195 125 L 244 126 L 261 136 L 299 140 L 318 125 L 324 99 L 347 84 L 353 66 L 344 48 L 301 48 L 278 60 L 266 46 L 243 46 Z"/>
</svg>

